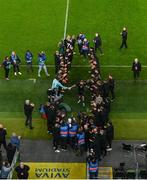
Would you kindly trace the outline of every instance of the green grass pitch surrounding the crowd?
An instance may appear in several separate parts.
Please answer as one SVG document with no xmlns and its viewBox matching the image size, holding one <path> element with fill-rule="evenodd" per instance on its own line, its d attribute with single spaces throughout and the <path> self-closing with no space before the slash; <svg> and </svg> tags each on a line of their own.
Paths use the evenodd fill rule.
<svg viewBox="0 0 147 180">
<path fill-rule="evenodd" d="M 63 37 L 66 0 L 0 0 L 0 57 L 1 59 L 15 50 L 24 62 L 24 53 L 30 49 L 37 64 L 37 53 L 45 50 L 48 64 L 54 64 L 53 53 L 58 41 Z M 147 49 L 147 2 L 146 0 L 70 0 L 67 32 L 78 34 L 83 32 L 91 41 L 95 32 L 100 32 L 105 55 L 100 57 L 101 65 L 131 65 L 132 59 L 138 57 L 142 65 L 147 65 L 145 52 Z M 119 50 L 120 31 L 127 26 L 128 49 Z M 74 57 L 73 64 L 87 65 L 79 55 Z M 33 74 L 27 74 L 21 68 L 22 77 L 14 77 L 9 82 L 0 81 L 0 122 L 8 128 L 8 132 L 16 131 L 25 138 L 48 138 L 46 125 L 39 118 L 37 108 L 46 101 L 46 89 L 50 87 L 54 77 L 54 69 L 49 68 L 49 80 L 43 75 L 37 77 L 37 68 Z M 70 82 L 75 83 L 88 78 L 88 68 L 73 68 Z M 102 68 L 102 77 L 111 72 L 118 81 L 116 101 L 112 105 L 111 119 L 116 129 L 116 139 L 147 139 L 143 129 L 147 126 L 145 81 L 134 83 L 130 68 Z M 3 79 L 3 71 L 0 72 Z M 144 68 L 141 79 L 147 77 Z M 36 84 L 29 81 L 36 78 Z M 73 107 L 73 111 L 86 110 L 77 105 L 76 90 L 67 92 L 65 102 Z M 33 132 L 23 126 L 23 102 L 26 98 L 36 104 Z M 135 112 L 135 113 L 134 113 Z M 12 119 L 11 119 L 12 118 Z M 15 126 L 14 126 L 15 124 Z M 21 128 L 20 128 L 21 127 Z M 24 128 L 24 131 L 21 130 Z M 41 133 L 40 133 L 41 131 Z"/>
</svg>

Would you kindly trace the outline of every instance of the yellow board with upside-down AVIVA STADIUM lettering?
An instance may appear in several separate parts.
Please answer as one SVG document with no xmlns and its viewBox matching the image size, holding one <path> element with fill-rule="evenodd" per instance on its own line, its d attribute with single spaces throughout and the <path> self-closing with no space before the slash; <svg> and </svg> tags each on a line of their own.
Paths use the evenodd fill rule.
<svg viewBox="0 0 147 180">
<path fill-rule="evenodd" d="M 25 163 L 29 179 L 85 179 L 86 163 Z"/>
</svg>

